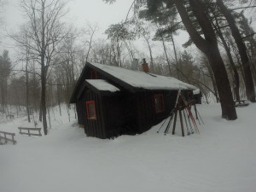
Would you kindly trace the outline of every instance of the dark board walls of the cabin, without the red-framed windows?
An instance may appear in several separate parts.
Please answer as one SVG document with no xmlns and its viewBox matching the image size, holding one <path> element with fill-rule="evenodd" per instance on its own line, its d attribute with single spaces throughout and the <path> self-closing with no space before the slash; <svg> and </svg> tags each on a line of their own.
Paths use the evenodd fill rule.
<svg viewBox="0 0 256 192">
<path fill-rule="evenodd" d="M 155 111 L 156 94 L 162 94 L 164 98 L 165 110 L 161 113 Z M 77 102 L 79 124 L 84 125 L 84 132 L 90 137 L 110 138 L 143 133 L 168 117 L 176 98 L 177 90 L 124 92 L 118 96 L 101 97 L 86 88 Z M 87 119 L 88 101 L 96 103 L 96 119 Z"/>
</svg>

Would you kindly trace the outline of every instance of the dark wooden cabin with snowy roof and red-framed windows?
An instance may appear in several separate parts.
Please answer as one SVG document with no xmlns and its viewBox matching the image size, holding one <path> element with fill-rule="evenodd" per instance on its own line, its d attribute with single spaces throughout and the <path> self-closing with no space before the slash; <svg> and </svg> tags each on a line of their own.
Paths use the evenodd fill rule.
<svg viewBox="0 0 256 192">
<path fill-rule="evenodd" d="M 90 137 L 139 134 L 166 119 L 177 91 L 193 95 L 195 86 L 171 77 L 87 62 L 70 99 L 79 125 Z"/>
</svg>

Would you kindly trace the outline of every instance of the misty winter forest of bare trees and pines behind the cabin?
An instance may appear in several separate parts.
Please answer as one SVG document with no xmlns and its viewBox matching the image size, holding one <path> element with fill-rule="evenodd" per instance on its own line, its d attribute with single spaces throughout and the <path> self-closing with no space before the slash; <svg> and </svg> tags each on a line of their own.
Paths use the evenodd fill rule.
<svg viewBox="0 0 256 192">
<path fill-rule="evenodd" d="M 233 99 L 255 102 L 256 40 L 253 17 L 246 16 L 254 1 L 134 1 L 124 21 L 105 30 L 106 39 L 95 37 L 96 24 L 67 23 L 67 6 L 61 0 L 20 1 L 26 22 L 5 34 L 19 52 L 14 60 L 4 47 L 1 54 L 1 113 L 9 115 L 8 105 L 26 107 L 28 121 L 39 111 L 47 127 L 50 108 L 64 102 L 74 110 L 69 98 L 86 61 L 130 68 L 143 58 L 151 73 L 194 84 L 206 102 L 223 101 L 225 119 L 236 119 Z M 182 47 L 175 40 L 181 30 L 189 33 Z"/>
</svg>

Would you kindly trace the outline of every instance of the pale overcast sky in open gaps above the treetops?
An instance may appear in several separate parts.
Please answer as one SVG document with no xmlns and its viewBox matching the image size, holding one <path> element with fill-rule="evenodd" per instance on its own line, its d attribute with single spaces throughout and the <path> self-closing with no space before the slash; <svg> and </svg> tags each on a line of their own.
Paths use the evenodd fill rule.
<svg viewBox="0 0 256 192">
<path fill-rule="evenodd" d="M 19 8 L 20 0 L 3 1 L 6 2 L 3 10 L 0 9 L 3 23 L 9 32 L 18 31 L 20 24 L 25 21 Z M 102 0 L 71 0 L 68 4 L 69 12 L 67 16 L 70 22 L 78 28 L 85 26 L 86 22 L 97 23 L 100 29 L 96 34 L 96 38 L 106 38 L 103 32 L 109 25 L 125 20 L 132 2 L 133 0 L 117 0 L 116 3 L 109 4 L 104 3 Z M 187 40 L 188 35 L 186 32 L 180 32 L 179 35 L 175 37 L 175 41 L 179 44 L 179 47 Z M 7 43 L 4 36 L 2 36 L 0 41 L 0 51 L 2 52 L 3 49 L 9 49 L 10 53 L 12 53 L 12 47 Z M 137 44 L 139 44 L 138 46 L 141 47 L 141 49 L 145 48 L 145 44 L 139 41 Z"/>
</svg>

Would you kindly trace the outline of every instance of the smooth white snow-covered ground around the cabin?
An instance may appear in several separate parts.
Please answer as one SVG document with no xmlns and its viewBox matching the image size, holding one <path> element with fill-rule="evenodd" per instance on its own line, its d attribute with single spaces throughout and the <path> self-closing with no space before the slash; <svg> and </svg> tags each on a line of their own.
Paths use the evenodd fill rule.
<svg viewBox="0 0 256 192">
<path fill-rule="evenodd" d="M 18 134 L 26 118 L 0 124 L 17 144 L 0 145 L 2 192 L 256 191 L 256 104 L 220 118 L 218 104 L 198 106 L 200 134 L 164 136 L 160 125 L 114 140 L 86 137 L 73 117 L 51 115 L 47 137 Z"/>
</svg>

